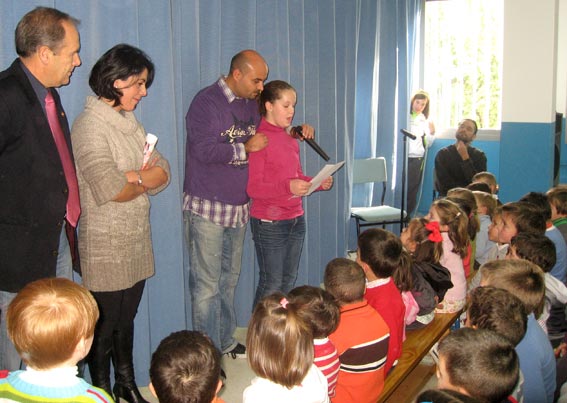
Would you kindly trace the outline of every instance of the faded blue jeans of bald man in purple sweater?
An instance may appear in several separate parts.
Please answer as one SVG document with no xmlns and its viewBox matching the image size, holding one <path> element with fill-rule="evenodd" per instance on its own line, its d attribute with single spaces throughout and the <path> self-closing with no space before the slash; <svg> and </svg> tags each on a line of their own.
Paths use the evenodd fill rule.
<svg viewBox="0 0 567 403">
<path fill-rule="evenodd" d="M 242 265 L 246 226 L 225 228 L 183 212 L 189 248 L 193 329 L 206 333 L 223 353 L 237 342 L 234 290 Z"/>
</svg>

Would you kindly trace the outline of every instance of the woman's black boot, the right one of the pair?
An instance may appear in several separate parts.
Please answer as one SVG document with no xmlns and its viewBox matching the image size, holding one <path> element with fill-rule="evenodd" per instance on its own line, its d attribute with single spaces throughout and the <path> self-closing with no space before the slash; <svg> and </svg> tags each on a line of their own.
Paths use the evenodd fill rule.
<svg viewBox="0 0 567 403">
<path fill-rule="evenodd" d="M 114 399 L 124 399 L 128 403 L 149 403 L 145 400 L 134 379 L 134 327 L 114 332 L 112 338 L 112 360 L 114 363 Z"/>
</svg>

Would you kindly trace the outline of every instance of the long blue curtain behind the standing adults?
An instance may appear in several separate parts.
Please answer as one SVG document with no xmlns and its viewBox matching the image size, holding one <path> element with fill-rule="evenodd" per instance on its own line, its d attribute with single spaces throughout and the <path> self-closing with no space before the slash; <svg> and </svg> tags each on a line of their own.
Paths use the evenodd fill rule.
<svg viewBox="0 0 567 403">
<path fill-rule="evenodd" d="M 156 275 L 149 279 L 136 319 L 136 369 L 148 380 L 152 351 L 170 332 L 191 328 L 189 263 L 183 236 L 185 113 L 196 92 L 228 71 L 239 50 L 258 50 L 268 80 L 289 81 L 298 91 L 295 122 L 316 129 L 331 162 L 347 161 L 331 192 L 305 200 L 307 237 L 298 284 L 319 284 L 326 263 L 352 242 L 349 166 L 357 157 L 386 156 L 395 200 L 400 147 L 397 129 L 407 121 L 407 89 L 420 0 L 3 0 L 0 67 L 16 57 L 14 28 L 35 6 L 61 9 L 81 20 L 82 66 L 61 88 L 70 122 L 90 94 L 90 69 L 117 43 L 138 46 L 156 65 L 156 78 L 136 114 L 159 136 L 171 164 L 170 186 L 152 198 Z M 301 146 L 307 174 L 323 165 Z M 394 169 L 395 168 L 395 169 Z M 366 193 L 362 190 L 362 193 Z M 1 263 L 0 263 L 1 265 Z M 250 317 L 257 267 L 250 233 L 245 242 L 236 305 L 240 326 Z"/>
</svg>

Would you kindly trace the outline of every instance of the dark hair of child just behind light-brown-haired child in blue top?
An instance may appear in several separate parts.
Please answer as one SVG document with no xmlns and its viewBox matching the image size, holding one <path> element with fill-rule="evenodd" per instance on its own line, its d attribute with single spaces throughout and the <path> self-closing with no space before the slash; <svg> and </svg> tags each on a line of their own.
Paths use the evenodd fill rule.
<svg viewBox="0 0 567 403">
<path fill-rule="evenodd" d="M 537 264 L 544 273 L 549 273 L 557 262 L 555 244 L 545 235 L 521 232 L 510 241 L 512 247 L 519 258 Z"/>
</svg>

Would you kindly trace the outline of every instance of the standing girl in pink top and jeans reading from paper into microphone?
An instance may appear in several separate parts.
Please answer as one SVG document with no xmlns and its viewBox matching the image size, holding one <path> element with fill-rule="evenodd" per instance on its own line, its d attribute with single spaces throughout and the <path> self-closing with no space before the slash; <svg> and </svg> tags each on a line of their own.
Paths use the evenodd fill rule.
<svg viewBox="0 0 567 403">
<path fill-rule="evenodd" d="M 289 292 L 295 285 L 303 239 L 305 218 L 302 196 L 311 187 L 303 174 L 299 144 L 290 136 L 297 94 L 285 81 L 267 83 L 260 95 L 262 120 L 257 132 L 268 138 L 268 146 L 250 153 L 247 192 L 252 199 L 250 223 L 260 267 L 254 305 L 275 291 Z M 306 127 L 305 137 L 313 137 Z M 328 190 L 332 177 L 321 185 Z"/>
</svg>

